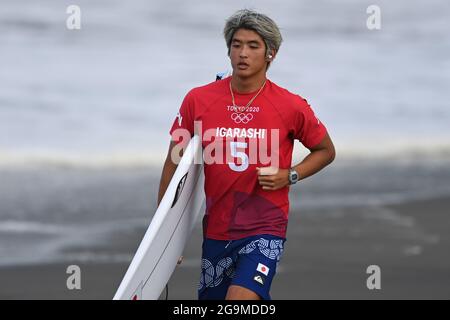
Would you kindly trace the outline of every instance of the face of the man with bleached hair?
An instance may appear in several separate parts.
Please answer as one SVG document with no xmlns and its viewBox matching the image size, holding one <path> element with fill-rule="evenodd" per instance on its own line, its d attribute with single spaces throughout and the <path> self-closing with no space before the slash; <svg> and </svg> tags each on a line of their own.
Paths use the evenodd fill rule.
<svg viewBox="0 0 450 320">
<path fill-rule="evenodd" d="M 253 30 L 239 29 L 234 33 L 230 47 L 233 74 L 250 77 L 266 70 L 266 45 Z"/>
</svg>

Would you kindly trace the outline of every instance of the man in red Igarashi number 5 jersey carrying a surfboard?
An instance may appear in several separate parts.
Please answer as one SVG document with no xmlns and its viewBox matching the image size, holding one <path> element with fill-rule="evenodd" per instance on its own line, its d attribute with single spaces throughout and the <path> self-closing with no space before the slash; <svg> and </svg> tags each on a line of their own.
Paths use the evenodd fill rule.
<svg viewBox="0 0 450 320">
<path fill-rule="evenodd" d="M 180 139 L 174 133 L 198 133 L 204 154 L 209 150 L 198 297 L 270 299 L 286 240 L 290 185 L 330 164 L 335 150 L 307 101 L 266 78 L 282 41 L 277 25 L 263 14 L 240 10 L 227 20 L 224 36 L 232 76 L 186 95 L 170 130 L 175 141 L 164 164 L 158 203 L 176 169 L 171 154 Z M 291 167 L 294 139 L 310 154 Z M 269 162 L 263 161 L 264 151 L 270 151 Z"/>
</svg>

